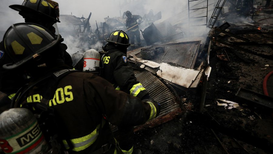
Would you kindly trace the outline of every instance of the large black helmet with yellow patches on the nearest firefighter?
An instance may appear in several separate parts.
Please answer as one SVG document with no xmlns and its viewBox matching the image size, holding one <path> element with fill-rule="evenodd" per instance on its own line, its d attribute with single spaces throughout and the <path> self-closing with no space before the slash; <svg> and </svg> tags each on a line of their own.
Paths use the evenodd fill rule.
<svg viewBox="0 0 273 154">
<path fill-rule="evenodd" d="M 55 46 L 61 36 L 54 36 L 45 27 L 34 23 L 13 24 L 6 31 L 3 41 L 5 53 L 13 63 L 3 65 L 4 69 L 14 69 Z"/>
</svg>

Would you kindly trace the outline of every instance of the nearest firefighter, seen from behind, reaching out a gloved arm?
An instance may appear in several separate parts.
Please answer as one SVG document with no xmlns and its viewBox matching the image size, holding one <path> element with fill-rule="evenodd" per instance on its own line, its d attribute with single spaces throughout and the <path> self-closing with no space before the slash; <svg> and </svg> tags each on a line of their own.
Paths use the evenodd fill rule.
<svg viewBox="0 0 273 154">
<path fill-rule="evenodd" d="M 8 28 L 4 43 L 12 63 L 3 68 L 20 68 L 31 76 L 14 107 L 26 107 L 35 114 L 54 111 L 56 122 L 49 119 L 54 127 L 48 132 L 56 131 L 69 154 L 122 153 L 109 122 L 144 124 L 158 116 L 160 104 L 115 90 L 93 73 L 69 69 L 59 50 L 60 39 L 38 24 L 19 23 Z"/>
</svg>

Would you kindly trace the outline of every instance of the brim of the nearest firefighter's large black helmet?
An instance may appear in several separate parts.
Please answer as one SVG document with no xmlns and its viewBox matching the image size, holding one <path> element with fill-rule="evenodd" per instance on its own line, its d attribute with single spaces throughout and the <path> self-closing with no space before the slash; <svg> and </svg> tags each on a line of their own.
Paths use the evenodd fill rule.
<svg viewBox="0 0 273 154">
<path fill-rule="evenodd" d="M 57 36 L 57 39 L 55 41 L 53 41 L 52 43 L 49 43 L 48 45 L 46 45 L 45 47 L 41 48 L 39 51 L 37 51 L 37 53 L 35 53 L 34 55 L 30 55 L 27 58 L 20 60 L 17 63 L 8 63 L 3 65 L 3 69 L 15 69 L 19 66 L 22 66 L 23 64 L 25 64 L 26 62 L 30 61 L 31 59 L 34 59 L 36 56 L 40 55 L 41 53 L 43 53 L 45 50 L 49 50 L 51 47 L 54 47 L 57 43 L 59 43 L 61 40 L 61 35 L 59 34 Z"/>
</svg>

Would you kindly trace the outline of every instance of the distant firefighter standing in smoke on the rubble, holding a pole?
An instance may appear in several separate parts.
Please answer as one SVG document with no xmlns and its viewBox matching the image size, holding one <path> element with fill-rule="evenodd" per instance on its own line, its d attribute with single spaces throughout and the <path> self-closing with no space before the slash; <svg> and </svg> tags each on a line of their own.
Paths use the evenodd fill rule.
<svg viewBox="0 0 273 154">
<path fill-rule="evenodd" d="M 142 17 L 140 15 L 132 15 L 132 13 L 130 11 L 126 11 L 125 14 L 127 16 L 126 28 L 127 29 L 131 28 L 129 30 L 130 38 L 131 38 L 131 48 L 134 49 L 135 48 L 135 36 L 136 36 L 137 46 L 141 46 L 140 31 L 139 31 L 138 25 L 140 25 Z M 138 22 L 137 22 L 137 20 L 138 20 Z"/>
</svg>

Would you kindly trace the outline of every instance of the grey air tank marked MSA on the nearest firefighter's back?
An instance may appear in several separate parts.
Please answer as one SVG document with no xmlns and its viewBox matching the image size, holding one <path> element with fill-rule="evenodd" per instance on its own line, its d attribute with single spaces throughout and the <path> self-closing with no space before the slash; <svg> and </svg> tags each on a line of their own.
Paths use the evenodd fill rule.
<svg viewBox="0 0 273 154">
<path fill-rule="evenodd" d="M 0 147 L 5 153 L 49 151 L 35 116 L 25 108 L 11 108 L 0 114 Z"/>
</svg>

